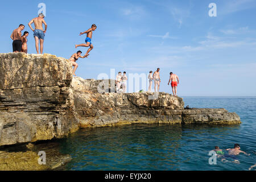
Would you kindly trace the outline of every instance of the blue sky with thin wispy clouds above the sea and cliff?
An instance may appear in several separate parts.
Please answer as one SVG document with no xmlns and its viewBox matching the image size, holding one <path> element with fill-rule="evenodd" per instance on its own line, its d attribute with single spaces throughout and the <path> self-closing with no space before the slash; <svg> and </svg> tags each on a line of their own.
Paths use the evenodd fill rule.
<svg viewBox="0 0 256 182">
<path fill-rule="evenodd" d="M 209 3 L 217 16 L 210 17 Z M 95 23 L 94 49 L 79 59 L 77 76 L 148 73 L 160 68 L 161 92 L 169 73 L 180 77 L 179 96 L 256 96 L 256 1 L 4 1 L 0 52 L 11 52 L 11 32 L 26 25 L 28 53 L 36 53 L 28 22 L 46 4 L 44 52 L 69 59 Z M 136 90 L 134 90 L 136 91 Z"/>
</svg>

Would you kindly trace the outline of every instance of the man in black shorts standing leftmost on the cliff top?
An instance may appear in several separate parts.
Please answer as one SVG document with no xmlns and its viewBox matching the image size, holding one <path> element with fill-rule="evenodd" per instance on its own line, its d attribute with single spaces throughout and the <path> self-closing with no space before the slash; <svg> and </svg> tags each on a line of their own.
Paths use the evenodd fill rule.
<svg viewBox="0 0 256 182">
<path fill-rule="evenodd" d="M 11 34 L 11 39 L 13 40 L 13 52 L 20 52 L 22 48 L 22 30 L 25 26 L 20 24 Z"/>
</svg>

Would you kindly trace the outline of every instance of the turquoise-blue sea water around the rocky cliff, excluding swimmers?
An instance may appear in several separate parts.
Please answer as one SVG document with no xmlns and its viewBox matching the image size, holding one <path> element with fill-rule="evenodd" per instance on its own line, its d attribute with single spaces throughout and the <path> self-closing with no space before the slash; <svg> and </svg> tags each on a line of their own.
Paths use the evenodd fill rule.
<svg viewBox="0 0 256 182">
<path fill-rule="evenodd" d="M 185 106 L 225 108 L 241 125 L 175 126 L 134 124 L 81 129 L 58 140 L 60 152 L 72 156 L 65 170 L 248 170 L 256 164 L 256 97 L 183 97 Z M 239 143 L 240 164 L 209 164 L 214 146 Z M 254 168 L 255 169 L 255 168 Z"/>
</svg>

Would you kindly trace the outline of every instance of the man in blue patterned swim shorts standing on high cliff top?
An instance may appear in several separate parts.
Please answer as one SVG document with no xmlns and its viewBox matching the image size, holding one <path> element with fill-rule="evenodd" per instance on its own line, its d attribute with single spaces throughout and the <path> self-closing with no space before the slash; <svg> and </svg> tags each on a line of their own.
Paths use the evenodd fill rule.
<svg viewBox="0 0 256 182">
<path fill-rule="evenodd" d="M 35 30 L 32 28 L 31 24 L 34 23 Z M 45 27 L 45 30 L 43 30 L 43 24 Z M 39 54 L 39 40 L 40 40 L 40 52 L 43 53 L 43 44 L 44 44 L 44 36 L 46 34 L 47 30 L 47 24 L 44 21 L 44 14 L 40 13 L 38 17 L 33 18 L 30 23 L 28 23 L 28 26 L 31 28 L 31 30 L 34 32 L 34 38 L 36 43 L 36 52 Z"/>
</svg>

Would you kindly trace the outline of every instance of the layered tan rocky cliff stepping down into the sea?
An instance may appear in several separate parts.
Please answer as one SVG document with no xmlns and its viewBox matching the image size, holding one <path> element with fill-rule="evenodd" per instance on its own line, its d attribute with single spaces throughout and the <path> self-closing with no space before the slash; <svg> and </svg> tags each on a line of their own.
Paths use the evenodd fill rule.
<svg viewBox="0 0 256 182">
<path fill-rule="evenodd" d="M 103 85 L 108 85 L 104 88 Z M 99 92 L 104 88 L 104 92 Z M 72 76 L 67 59 L 53 55 L 0 54 L 0 146 L 62 138 L 79 127 L 127 123 L 233 124 L 225 109 L 184 109 L 168 93 L 109 93 L 112 80 Z"/>
</svg>

